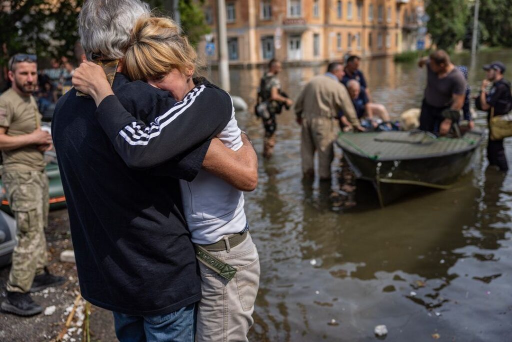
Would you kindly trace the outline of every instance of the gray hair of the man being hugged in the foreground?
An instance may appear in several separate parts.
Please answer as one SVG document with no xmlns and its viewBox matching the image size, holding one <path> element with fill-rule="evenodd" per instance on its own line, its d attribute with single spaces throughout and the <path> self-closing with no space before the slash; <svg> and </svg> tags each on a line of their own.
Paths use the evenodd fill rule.
<svg viewBox="0 0 512 342">
<path fill-rule="evenodd" d="M 93 54 L 122 58 L 135 22 L 150 12 L 150 5 L 140 0 L 86 1 L 78 15 L 78 33 L 88 59 Z"/>
</svg>

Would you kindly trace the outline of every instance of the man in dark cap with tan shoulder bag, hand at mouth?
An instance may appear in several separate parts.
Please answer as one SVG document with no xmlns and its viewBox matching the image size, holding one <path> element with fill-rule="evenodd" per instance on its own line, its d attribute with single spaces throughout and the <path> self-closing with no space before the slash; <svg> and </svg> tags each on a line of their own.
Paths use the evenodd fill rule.
<svg viewBox="0 0 512 342">
<path fill-rule="evenodd" d="M 476 98 L 477 109 L 487 111 L 487 122 L 491 115 L 507 114 L 512 110 L 512 94 L 510 94 L 510 82 L 503 78 L 506 68 L 501 62 L 493 62 L 483 66 L 486 71 L 482 81 L 480 96 Z M 490 90 L 486 92 L 487 89 Z M 487 143 L 487 159 L 489 165 L 497 166 L 502 171 L 508 170 L 503 140 L 491 140 Z"/>
</svg>

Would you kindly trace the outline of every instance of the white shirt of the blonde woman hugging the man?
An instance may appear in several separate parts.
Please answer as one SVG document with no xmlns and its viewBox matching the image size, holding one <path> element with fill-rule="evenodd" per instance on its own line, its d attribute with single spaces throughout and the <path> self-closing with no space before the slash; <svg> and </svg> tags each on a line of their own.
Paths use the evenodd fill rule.
<svg viewBox="0 0 512 342">
<path fill-rule="evenodd" d="M 242 131 L 234 117 L 217 137 L 233 151 L 243 146 Z M 218 242 L 224 235 L 241 232 L 246 225 L 244 194 L 221 178 L 200 170 L 192 182 L 180 180 L 183 210 L 192 242 Z"/>
</svg>

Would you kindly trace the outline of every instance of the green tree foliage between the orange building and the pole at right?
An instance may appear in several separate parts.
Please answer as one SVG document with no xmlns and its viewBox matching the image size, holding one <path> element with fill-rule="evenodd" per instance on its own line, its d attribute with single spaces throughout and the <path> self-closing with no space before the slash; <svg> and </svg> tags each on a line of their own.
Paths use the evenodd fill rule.
<svg viewBox="0 0 512 342">
<path fill-rule="evenodd" d="M 440 49 L 450 49 L 464 38 L 469 15 L 467 0 L 430 0 L 426 12 L 432 41 Z"/>
</svg>

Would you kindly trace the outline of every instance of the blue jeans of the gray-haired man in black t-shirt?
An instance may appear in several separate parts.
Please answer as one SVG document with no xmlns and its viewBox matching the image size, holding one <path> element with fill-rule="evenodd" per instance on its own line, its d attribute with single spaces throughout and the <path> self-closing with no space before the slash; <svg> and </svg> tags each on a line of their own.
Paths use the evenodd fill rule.
<svg viewBox="0 0 512 342">
<path fill-rule="evenodd" d="M 197 306 L 191 304 L 164 315 L 134 316 L 114 312 L 121 342 L 194 342 Z"/>
</svg>

